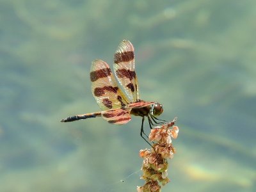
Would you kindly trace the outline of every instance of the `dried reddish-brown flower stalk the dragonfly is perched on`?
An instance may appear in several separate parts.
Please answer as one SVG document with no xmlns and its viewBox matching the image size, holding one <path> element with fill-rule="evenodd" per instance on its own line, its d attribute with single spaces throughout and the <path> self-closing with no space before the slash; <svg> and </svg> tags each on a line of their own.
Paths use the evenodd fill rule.
<svg viewBox="0 0 256 192">
<path fill-rule="evenodd" d="M 175 121 L 176 118 L 172 122 L 151 129 L 148 139 L 155 142 L 154 148 L 140 150 L 140 157 L 143 158 L 141 179 L 145 180 L 145 184 L 137 187 L 138 192 L 159 192 L 161 191 L 159 183 L 164 186 L 170 182 L 167 177 L 167 159 L 172 159 L 173 154 L 175 154 L 172 138 L 176 139 L 179 132 L 179 128 L 173 126 Z"/>
</svg>

